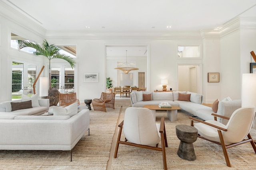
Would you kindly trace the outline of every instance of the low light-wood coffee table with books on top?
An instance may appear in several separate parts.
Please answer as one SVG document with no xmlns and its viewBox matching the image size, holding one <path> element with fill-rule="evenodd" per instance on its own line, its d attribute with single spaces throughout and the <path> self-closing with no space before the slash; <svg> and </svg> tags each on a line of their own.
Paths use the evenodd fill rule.
<svg viewBox="0 0 256 170">
<path fill-rule="evenodd" d="M 172 107 L 166 107 L 166 108 L 160 108 L 158 105 L 145 105 L 143 106 L 145 108 L 148 108 L 152 111 L 154 118 L 156 120 L 156 110 L 167 110 L 167 117 L 168 119 L 170 119 L 170 121 L 177 121 L 177 113 L 178 113 L 178 109 L 180 109 L 180 107 L 178 106 L 172 106 Z"/>
</svg>

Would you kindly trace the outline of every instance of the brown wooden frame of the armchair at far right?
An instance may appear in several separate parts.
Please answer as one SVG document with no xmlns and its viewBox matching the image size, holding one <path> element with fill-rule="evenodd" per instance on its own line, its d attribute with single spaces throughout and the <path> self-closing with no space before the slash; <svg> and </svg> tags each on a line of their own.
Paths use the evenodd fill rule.
<svg viewBox="0 0 256 170">
<path fill-rule="evenodd" d="M 230 119 L 229 117 L 222 116 L 222 115 L 217 115 L 217 114 L 215 114 L 215 113 L 212 113 L 212 115 L 214 116 L 214 120 L 215 120 L 215 121 L 217 121 L 217 117 L 221 117 L 221 118 L 223 118 L 223 119 L 228 119 L 228 120 Z M 205 140 L 207 140 L 207 141 L 210 141 L 210 142 L 212 142 L 212 143 L 216 143 L 216 144 L 218 144 L 218 145 L 221 145 L 221 146 L 222 146 L 223 153 L 224 153 L 224 156 L 225 156 L 225 160 L 226 160 L 227 166 L 231 167 L 230 160 L 229 160 L 229 157 L 228 157 L 228 152 L 227 152 L 227 149 L 228 149 L 228 148 L 235 147 L 235 146 L 237 146 L 237 145 L 241 145 L 241 144 L 250 142 L 251 145 L 252 145 L 252 148 L 254 149 L 254 152 L 256 153 L 256 146 L 255 146 L 255 144 L 254 144 L 254 141 L 252 140 L 252 137 L 251 137 L 250 133 L 248 133 L 248 135 L 247 135 L 248 139 L 244 139 L 244 140 L 242 140 L 241 142 L 238 142 L 238 143 L 232 143 L 232 144 L 230 144 L 230 145 L 225 145 L 224 139 L 223 139 L 223 135 L 222 135 L 222 132 L 221 132 L 221 131 L 228 131 L 228 129 L 225 129 L 225 128 L 222 128 L 222 127 L 213 125 L 213 124 L 211 124 L 211 123 L 207 123 L 207 122 L 201 121 L 201 120 L 196 119 L 196 118 L 194 118 L 194 117 L 189 117 L 189 118 L 192 119 L 192 120 L 191 120 L 191 126 L 194 126 L 194 121 L 198 121 L 198 122 L 204 123 L 204 124 L 206 124 L 206 125 L 209 125 L 209 126 L 212 126 L 212 127 L 215 127 L 215 128 L 218 129 L 218 135 L 219 135 L 219 137 L 220 137 L 220 143 L 219 143 L 219 142 L 216 142 L 216 141 L 211 141 L 211 140 L 209 140 L 209 139 L 206 139 L 206 138 L 200 136 L 199 134 L 198 134 L 198 137 L 200 137 L 200 138 L 202 138 L 202 139 L 205 139 Z"/>
</svg>

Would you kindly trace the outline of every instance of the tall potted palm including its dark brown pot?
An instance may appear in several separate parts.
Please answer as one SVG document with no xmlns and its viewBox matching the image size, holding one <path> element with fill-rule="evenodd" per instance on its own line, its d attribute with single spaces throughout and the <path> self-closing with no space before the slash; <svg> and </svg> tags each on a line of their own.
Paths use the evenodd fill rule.
<svg viewBox="0 0 256 170">
<path fill-rule="evenodd" d="M 70 66 L 73 68 L 75 67 L 75 60 L 73 57 L 70 57 L 69 55 L 66 54 L 61 54 L 60 53 L 60 47 L 51 44 L 48 44 L 48 41 L 46 39 L 44 39 L 42 46 L 40 46 L 39 43 L 36 43 L 35 41 L 30 41 L 30 40 L 21 40 L 18 41 L 19 44 L 19 50 L 25 47 L 32 47 L 34 49 L 36 49 L 36 51 L 33 52 L 34 55 L 42 55 L 47 57 L 47 59 L 49 60 L 49 94 L 48 94 L 48 98 L 50 99 L 50 106 L 56 106 L 58 104 L 58 99 L 59 99 L 59 91 L 57 89 L 52 90 L 51 87 L 51 60 L 52 59 L 63 59 L 65 61 L 67 61 Z M 50 92 L 50 91 L 54 91 L 54 92 Z"/>
</svg>

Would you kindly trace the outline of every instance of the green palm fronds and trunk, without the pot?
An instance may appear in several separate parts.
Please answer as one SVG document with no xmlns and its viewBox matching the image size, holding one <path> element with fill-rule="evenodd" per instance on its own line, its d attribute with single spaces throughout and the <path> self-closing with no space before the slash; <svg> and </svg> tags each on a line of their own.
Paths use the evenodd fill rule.
<svg viewBox="0 0 256 170">
<path fill-rule="evenodd" d="M 60 53 L 60 47 L 51 44 L 49 45 L 49 43 L 47 42 L 46 39 L 44 39 L 42 46 L 40 46 L 40 44 L 34 42 L 34 41 L 30 41 L 30 40 L 20 40 L 18 41 L 18 49 L 22 49 L 25 47 L 32 47 L 34 49 L 36 49 L 35 52 L 33 52 L 34 55 L 43 55 L 45 57 L 47 57 L 47 59 L 49 60 L 49 90 L 52 89 L 51 87 L 51 60 L 52 59 L 63 59 L 65 61 L 67 61 L 70 66 L 73 68 L 75 67 L 75 60 L 73 57 L 70 57 L 69 55 L 66 54 L 61 54 Z"/>
</svg>

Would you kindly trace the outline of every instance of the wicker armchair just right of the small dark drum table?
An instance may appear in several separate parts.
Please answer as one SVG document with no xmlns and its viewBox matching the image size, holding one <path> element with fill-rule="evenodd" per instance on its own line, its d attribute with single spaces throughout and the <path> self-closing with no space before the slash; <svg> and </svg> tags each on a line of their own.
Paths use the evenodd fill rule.
<svg viewBox="0 0 256 170">
<path fill-rule="evenodd" d="M 115 109 L 115 94 L 114 93 L 101 93 L 99 99 L 92 100 L 94 110 L 106 111 L 106 107 Z"/>
</svg>

